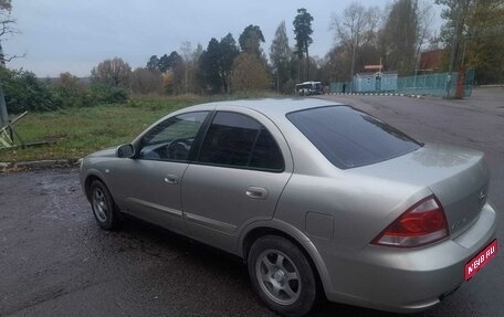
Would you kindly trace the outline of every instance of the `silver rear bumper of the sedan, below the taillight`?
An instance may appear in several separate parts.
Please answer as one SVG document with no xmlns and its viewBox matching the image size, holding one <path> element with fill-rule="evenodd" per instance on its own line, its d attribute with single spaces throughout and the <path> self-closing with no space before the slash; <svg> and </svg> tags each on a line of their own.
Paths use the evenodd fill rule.
<svg viewBox="0 0 504 317">
<path fill-rule="evenodd" d="M 464 265 L 495 239 L 497 222 L 496 212 L 485 204 L 464 233 L 434 245 L 368 245 L 357 252 L 322 254 L 329 276 L 324 281 L 326 296 L 396 313 L 427 309 L 464 282 Z"/>
</svg>

